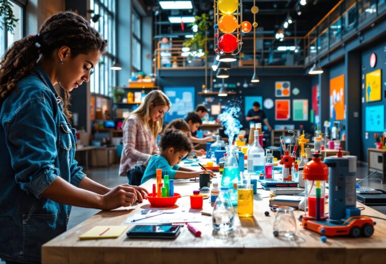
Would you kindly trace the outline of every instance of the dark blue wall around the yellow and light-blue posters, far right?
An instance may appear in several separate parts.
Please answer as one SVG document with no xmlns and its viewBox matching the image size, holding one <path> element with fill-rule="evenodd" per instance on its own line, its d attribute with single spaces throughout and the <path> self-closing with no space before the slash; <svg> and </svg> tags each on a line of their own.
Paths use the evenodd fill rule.
<svg viewBox="0 0 386 264">
<path fill-rule="evenodd" d="M 379 43 L 379 42 L 378 42 Z M 374 68 L 370 67 L 370 55 L 371 53 L 375 53 L 377 57 L 377 62 Z M 362 103 L 362 131 L 361 131 L 361 138 L 362 138 L 362 147 L 364 150 L 364 156 L 365 160 L 367 160 L 367 148 L 374 148 L 375 145 L 375 139 L 374 139 L 374 131 L 366 131 L 366 106 L 379 106 L 383 105 L 386 106 L 386 99 L 385 99 L 385 81 L 386 81 L 386 41 L 382 41 L 381 44 L 378 45 L 372 45 L 367 47 L 362 52 L 362 74 L 364 74 L 364 77 L 366 78 L 366 73 L 369 73 L 371 71 L 381 69 L 381 100 L 376 102 L 364 102 Z M 365 82 L 365 79 L 362 80 L 362 83 Z M 365 84 L 366 85 L 366 84 Z M 365 89 L 362 90 L 362 97 L 365 98 Z M 366 132 L 368 132 L 368 138 L 366 139 Z M 379 132 L 377 132 L 379 133 Z"/>
</svg>

